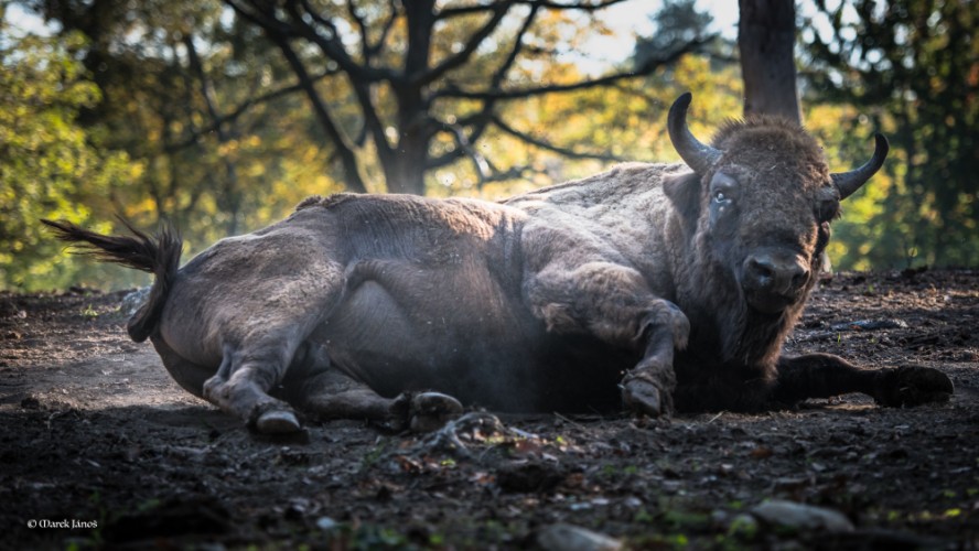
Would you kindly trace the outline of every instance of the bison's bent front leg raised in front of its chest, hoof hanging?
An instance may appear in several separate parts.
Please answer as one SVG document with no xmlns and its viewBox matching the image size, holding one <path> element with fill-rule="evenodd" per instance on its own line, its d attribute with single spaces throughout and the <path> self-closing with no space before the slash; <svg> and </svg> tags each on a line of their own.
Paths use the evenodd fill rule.
<svg viewBox="0 0 979 551">
<path fill-rule="evenodd" d="M 623 404 L 652 417 L 673 412 L 674 355 L 686 348 L 690 322 L 676 304 L 654 295 L 639 272 L 605 261 L 551 267 L 528 295 L 548 331 L 587 332 L 612 346 L 643 350 L 622 379 Z"/>
</svg>

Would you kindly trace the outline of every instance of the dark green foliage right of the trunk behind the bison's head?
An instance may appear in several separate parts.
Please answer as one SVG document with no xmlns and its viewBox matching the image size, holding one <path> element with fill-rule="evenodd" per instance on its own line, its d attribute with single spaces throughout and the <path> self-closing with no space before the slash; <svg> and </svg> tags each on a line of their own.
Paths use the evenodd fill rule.
<svg viewBox="0 0 979 551">
<path fill-rule="evenodd" d="M 836 137 L 843 164 L 891 140 L 883 174 L 849 199 L 836 226 L 843 268 L 979 261 L 979 3 L 848 0 L 802 34 L 809 104 L 846 108 Z"/>
</svg>

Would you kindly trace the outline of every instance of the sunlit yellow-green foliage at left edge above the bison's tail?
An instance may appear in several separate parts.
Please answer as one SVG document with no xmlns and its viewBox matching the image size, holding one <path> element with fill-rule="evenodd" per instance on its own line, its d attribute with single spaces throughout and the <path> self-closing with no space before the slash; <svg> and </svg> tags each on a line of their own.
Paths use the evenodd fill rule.
<svg viewBox="0 0 979 551">
<path fill-rule="evenodd" d="M 18 35 L 2 19 L 0 35 L 0 289 L 67 287 L 88 262 L 62 258 L 37 219 L 105 220 L 98 206 L 128 160 L 77 123 L 99 98 L 77 60 L 80 35 Z"/>
</svg>

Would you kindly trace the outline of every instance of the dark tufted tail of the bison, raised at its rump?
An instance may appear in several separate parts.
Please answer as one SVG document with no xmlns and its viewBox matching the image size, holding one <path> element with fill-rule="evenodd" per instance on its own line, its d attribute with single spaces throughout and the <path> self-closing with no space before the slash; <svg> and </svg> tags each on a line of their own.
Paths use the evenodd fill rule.
<svg viewBox="0 0 979 551">
<path fill-rule="evenodd" d="M 132 233 L 132 236 L 96 234 L 64 220 L 41 222 L 53 228 L 58 239 L 78 247 L 77 252 L 79 253 L 90 255 L 103 262 L 112 262 L 150 272 L 157 277 L 146 304 L 129 318 L 127 325 L 129 336 L 137 343 L 141 343 L 157 331 L 157 325 L 160 323 L 166 295 L 176 278 L 176 270 L 180 268 L 183 240 L 171 226 L 163 226 L 157 235 L 149 236 L 132 227 L 125 219 L 119 219 Z"/>
</svg>

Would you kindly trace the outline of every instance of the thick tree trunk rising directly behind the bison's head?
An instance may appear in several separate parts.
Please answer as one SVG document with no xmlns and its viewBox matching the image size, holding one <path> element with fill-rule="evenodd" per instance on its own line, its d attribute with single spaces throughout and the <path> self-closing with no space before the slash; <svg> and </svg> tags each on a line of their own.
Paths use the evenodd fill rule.
<svg viewBox="0 0 979 551">
<path fill-rule="evenodd" d="M 744 115 L 778 115 L 802 122 L 793 57 L 793 0 L 739 0 L 739 6 Z"/>
</svg>

